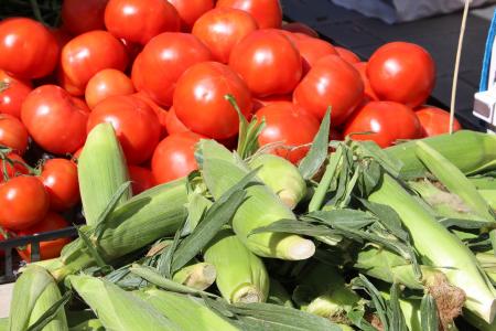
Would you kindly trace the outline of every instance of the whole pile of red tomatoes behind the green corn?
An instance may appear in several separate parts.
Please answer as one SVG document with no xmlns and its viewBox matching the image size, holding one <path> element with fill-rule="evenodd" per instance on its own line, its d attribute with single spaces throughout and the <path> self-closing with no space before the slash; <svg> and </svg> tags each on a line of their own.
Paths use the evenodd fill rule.
<svg viewBox="0 0 496 331">
<path fill-rule="evenodd" d="M 448 130 L 448 114 L 423 106 L 435 83 L 425 50 L 395 42 L 362 62 L 304 24 L 283 24 L 278 0 L 65 0 L 61 17 L 57 28 L 0 22 L 3 236 L 68 226 L 77 156 L 104 121 L 134 193 L 196 169 L 202 138 L 236 147 L 239 117 L 226 95 L 265 120 L 259 145 L 294 163 L 327 109 L 330 139 L 387 147 Z M 23 154 L 35 147 L 50 158 L 32 168 Z M 63 244 L 44 243 L 42 257 Z M 26 259 L 29 248 L 19 249 Z"/>
</svg>

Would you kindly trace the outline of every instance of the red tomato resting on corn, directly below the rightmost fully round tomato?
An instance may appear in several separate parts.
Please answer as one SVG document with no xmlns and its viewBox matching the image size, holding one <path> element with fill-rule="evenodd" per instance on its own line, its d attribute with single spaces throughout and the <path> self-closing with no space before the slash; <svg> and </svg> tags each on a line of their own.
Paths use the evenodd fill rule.
<svg viewBox="0 0 496 331">
<path fill-rule="evenodd" d="M 353 114 L 343 134 L 358 132 L 375 134 L 353 135 L 354 140 L 373 140 L 386 148 L 399 139 L 419 138 L 421 127 L 410 107 L 393 102 L 371 102 Z"/>
</svg>

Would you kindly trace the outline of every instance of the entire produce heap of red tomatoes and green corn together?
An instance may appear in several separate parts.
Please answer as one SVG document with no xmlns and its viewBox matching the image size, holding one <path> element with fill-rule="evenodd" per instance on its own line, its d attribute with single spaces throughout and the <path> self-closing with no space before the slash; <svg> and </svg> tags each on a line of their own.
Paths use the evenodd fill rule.
<svg viewBox="0 0 496 331">
<path fill-rule="evenodd" d="M 0 330 L 496 330 L 496 136 L 449 134 L 424 49 L 363 62 L 278 0 L 26 6 L 0 258 L 78 236 L 15 248 Z"/>
</svg>

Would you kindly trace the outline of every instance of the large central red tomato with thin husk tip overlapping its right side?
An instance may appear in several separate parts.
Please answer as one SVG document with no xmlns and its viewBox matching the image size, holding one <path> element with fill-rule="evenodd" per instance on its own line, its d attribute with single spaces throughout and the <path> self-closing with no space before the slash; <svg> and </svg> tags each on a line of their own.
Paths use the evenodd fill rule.
<svg viewBox="0 0 496 331">
<path fill-rule="evenodd" d="M 177 118 L 193 132 L 226 139 L 239 128 L 239 116 L 226 100 L 231 95 L 241 114 L 251 111 L 251 96 L 245 82 L 227 65 L 217 62 L 198 63 L 177 81 L 174 109 Z"/>
</svg>

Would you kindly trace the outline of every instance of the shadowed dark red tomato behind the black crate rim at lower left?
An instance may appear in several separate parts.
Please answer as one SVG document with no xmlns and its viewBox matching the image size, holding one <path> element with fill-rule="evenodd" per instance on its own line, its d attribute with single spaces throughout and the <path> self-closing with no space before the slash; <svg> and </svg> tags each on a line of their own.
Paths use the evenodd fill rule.
<svg viewBox="0 0 496 331">
<path fill-rule="evenodd" d="M 30 236 L 34 234 L 42 234 L 50 231 L 55 229 L 62 229 L 69 227 L 67 221 L 64 220 L 61 215 L 48 212 L 46 216 L 36 223 L 35 225 L 21 231 L 18 233 L 19 236 Z M 62 248 L 64 248 L 65 245 L 67 245 L 71 242 L 69 238 L 56 238 L 48 242 L 41 242 L 40 243 L 40 258 L 43 259 L 50 259 L 55 258 L 61 255 Z M 25 261 L 31 261 L 31 244 L 28 244 L 24 249 L 17 248 L 19 255 L 24 259 Z"/>
</svg>

